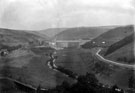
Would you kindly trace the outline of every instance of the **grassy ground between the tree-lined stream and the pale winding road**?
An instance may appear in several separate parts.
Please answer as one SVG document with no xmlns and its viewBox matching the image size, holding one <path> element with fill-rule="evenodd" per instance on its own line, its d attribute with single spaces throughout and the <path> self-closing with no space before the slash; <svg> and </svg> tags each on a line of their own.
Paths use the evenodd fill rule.
<svg viewBox="0 0 135 93">
<path fill-rule="evenodd" d="M 86 72 L 95 73 L 100 83 L 105 85 L 117 84 L 121 88 L 128 87 L 128 79 L 134 75 L 131 70 L 112 66 L 97 60 L 93 50 L 65 49 L 57 52 L 56 65 L 63 66 L 80 75 Z"/>
</svg>

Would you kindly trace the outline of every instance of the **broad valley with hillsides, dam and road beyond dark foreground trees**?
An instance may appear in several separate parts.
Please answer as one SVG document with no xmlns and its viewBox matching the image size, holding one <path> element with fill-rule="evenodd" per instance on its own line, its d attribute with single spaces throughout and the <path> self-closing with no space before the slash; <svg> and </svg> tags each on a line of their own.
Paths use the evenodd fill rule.
<svg viewBox="0 0 135 93">
<path fill-rule="evenodd" d="M 132 26 L 68 28 L 51 39 L 40 32 L 9 29 L 0 30 L 0 36 L 1 79 L 10 78 L 35 89 L 54 89 L 65 81 L 76 84 L 76 75 L 93 73 L 102 87 L 117 85 L 127 90 L 129 78 L 135 77 Z M 4 49 L 8 53 L 3 56 Z M 50 59 L 52 53 L 55 61 Z"/>
</svg>

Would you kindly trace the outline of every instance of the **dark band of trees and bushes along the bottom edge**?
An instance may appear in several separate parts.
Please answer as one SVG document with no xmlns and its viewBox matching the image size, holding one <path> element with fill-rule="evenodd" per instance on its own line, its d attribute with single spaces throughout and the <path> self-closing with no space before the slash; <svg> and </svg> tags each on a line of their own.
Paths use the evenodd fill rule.
<svg viewBox="0 0 135 93">
<path fill-rule="evenodd" d="M 21 91 L 21 93 L 124 93 L 117 85 L 105 87 L 103 84 L 100 84 L 92 73 L 80 75 L 75 84 L 70 85 L 68 82 L 63 81 L 61 85 L 46 90 L 42 90 L 40 85 L 35 90 L 19 83 L 14 83 L 16 85 L 16 90 Z M 13 88 L 11 91 L 12 90 Z M 7 93 L 7 90 L 4 92 Z"/>
</svg>

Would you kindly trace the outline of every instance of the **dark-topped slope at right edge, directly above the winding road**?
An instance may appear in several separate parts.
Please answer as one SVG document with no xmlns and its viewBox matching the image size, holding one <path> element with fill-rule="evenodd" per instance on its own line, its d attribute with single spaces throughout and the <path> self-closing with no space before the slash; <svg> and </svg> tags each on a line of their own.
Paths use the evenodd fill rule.
<svg viewBox="0 0 135 93">
<path fill-rule="evenodd" d="M 134 63 L 134 34 L 112 44 L 108 49 L 104 49 L 104 56 L 114 61 L 133 64 Z"/>
</svg>

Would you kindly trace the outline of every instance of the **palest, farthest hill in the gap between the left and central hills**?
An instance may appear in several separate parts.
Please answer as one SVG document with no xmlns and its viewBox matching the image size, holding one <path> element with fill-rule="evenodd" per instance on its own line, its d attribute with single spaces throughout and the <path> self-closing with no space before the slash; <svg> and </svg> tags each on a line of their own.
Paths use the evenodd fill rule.
<svg viewBox="0 0 135 93">
<path fill-rule="evenodd" d="M 38 31 L 40 34 L 46 35 L 50 38 L 54 37 L 56 34 L 66 30 L 67 28 L 49 28 L 46 30 L 40 30 Z"/>
</svg>

